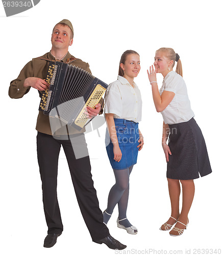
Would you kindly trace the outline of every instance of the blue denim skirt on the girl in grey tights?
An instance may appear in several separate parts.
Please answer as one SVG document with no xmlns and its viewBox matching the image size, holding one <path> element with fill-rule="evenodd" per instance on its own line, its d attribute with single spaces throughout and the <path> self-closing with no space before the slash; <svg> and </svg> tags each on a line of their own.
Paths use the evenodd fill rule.
<svg viewBox="0 0 222 256">
<path fill-rule="evenodd" d="M 126 119 L 114 118 L 116 135 L 122 158 L 119 162 L 115 161 L 113 154 L 113 143 L 110 139 L 109 132 L 106 130 L 106 151 L 110 164 L 113 169 L 126 169 L 136 164 L 139 148 L 139 128 L 138 123 Z"/>
</svg>

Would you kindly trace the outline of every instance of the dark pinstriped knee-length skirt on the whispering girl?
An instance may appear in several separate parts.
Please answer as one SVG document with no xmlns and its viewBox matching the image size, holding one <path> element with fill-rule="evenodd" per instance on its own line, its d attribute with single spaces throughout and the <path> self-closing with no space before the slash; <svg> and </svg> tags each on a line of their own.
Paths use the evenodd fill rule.
<svg viewBox="0 0 222 256">
<path fill-rule="evenodd" d="M 169 162 L 166 177 L 193 180 L 212 172 L 203 134 L 196 121 L 169 124 Z M 200 176 L 199 176 L 200 174 Z"/>
</svg>

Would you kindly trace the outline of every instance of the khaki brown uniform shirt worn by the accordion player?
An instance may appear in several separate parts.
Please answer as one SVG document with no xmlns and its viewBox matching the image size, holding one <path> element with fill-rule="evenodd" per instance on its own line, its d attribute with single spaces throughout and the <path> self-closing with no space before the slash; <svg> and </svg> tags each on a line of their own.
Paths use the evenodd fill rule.
<svg viewBox="0 0 222 256">
<path fill-rule="evenodd" d="M 65 55 L 65 57 L 60 60 L 63 62 L 66 62 L 69 58 L 75 58 L 73 57 L 69 52 Z M 41 79 L 46 78 L 47 70 L 48 70 L 48 61 L 43 60 L 40 58 L 47 58 L 50 60 L 55 60 L 55 57 L 51 54 L 51 52 L 44 54 L 41 57 L 33 58 L 30 62 L 24 66 L 24 68 L 21 70 L 19 76 L 11 81 L 10 87 L 9 87 L 9 96 L 14 99 L 22 98 L 25 94 L 27 94 L 31 87 L 23 87 L 24 80 L 28 77 L 38 77 Z M 82 61 L 81 59 L 74 59 L 70 61 L 70 65 L 82 68 L 86 70 L 87 72 L 91 73 L 89 69 L 89 64 Z M 36 90 L 37 91 L 37 90 Z M 41 97 L 41 94 L 43 92 L 39 92 L 39 96 Z M 40 101 L 39 101 L 40 102 Z M 100 103 L 102 105 L 103 99 L 101 99 Z M 38 106 L 36 106 L 38 108 Z M 103 113 L 103 109 L 101 109 L 101 112 L 99 114 Z M 49 134 L 49 135 L 67 135 L 67 128 L 68 128 L 68 134 L 77 134 L 77 133 L 83 133 L 85 132 L 85 129 L 78 131 L 72 126 L 66 127 L 65 123 L 62 123 L 57 118 L 54 118 L 53 120 L 53 133 L 50 125 L 50 118 L 47 115 L 43 114 L 43 111 L 39 111 L 37 123 L 36 123 L 36 130 L 38 132 Z M 54 132 L 55 131 L 55 132 Z"/>
</svg>

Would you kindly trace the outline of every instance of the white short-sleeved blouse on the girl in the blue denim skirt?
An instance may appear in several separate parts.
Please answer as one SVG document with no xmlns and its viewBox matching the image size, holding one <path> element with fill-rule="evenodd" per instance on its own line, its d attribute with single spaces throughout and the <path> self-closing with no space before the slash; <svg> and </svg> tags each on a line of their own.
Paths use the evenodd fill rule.
<svg viewBox="0 0 222 256">
<path fill-rule="evenodd" d="M 112 113 L 114 118 L 141 121 L 142 99 L 136 83 L 133 88 L 122 76 L 110 83 L 106 91 L 104 113 Z"/>
</svg>

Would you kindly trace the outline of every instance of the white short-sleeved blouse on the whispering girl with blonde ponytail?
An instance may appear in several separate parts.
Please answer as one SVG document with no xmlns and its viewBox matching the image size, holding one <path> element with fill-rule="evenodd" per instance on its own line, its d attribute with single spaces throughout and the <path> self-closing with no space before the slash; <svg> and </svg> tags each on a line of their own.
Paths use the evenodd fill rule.
<svg viewBox="0 0 222 256">
<path fill-rule="evenodd" d="M 175 124 L 186 122 L 194 117 L 187 95 L 186 84 L 182 76 L 175 71 L 170 71 L 163 79 L 160 95 L 162 95 L 163 91 L 175 93 L 172 101 L 161 112 L 165 123 Z"/>
</svg>

